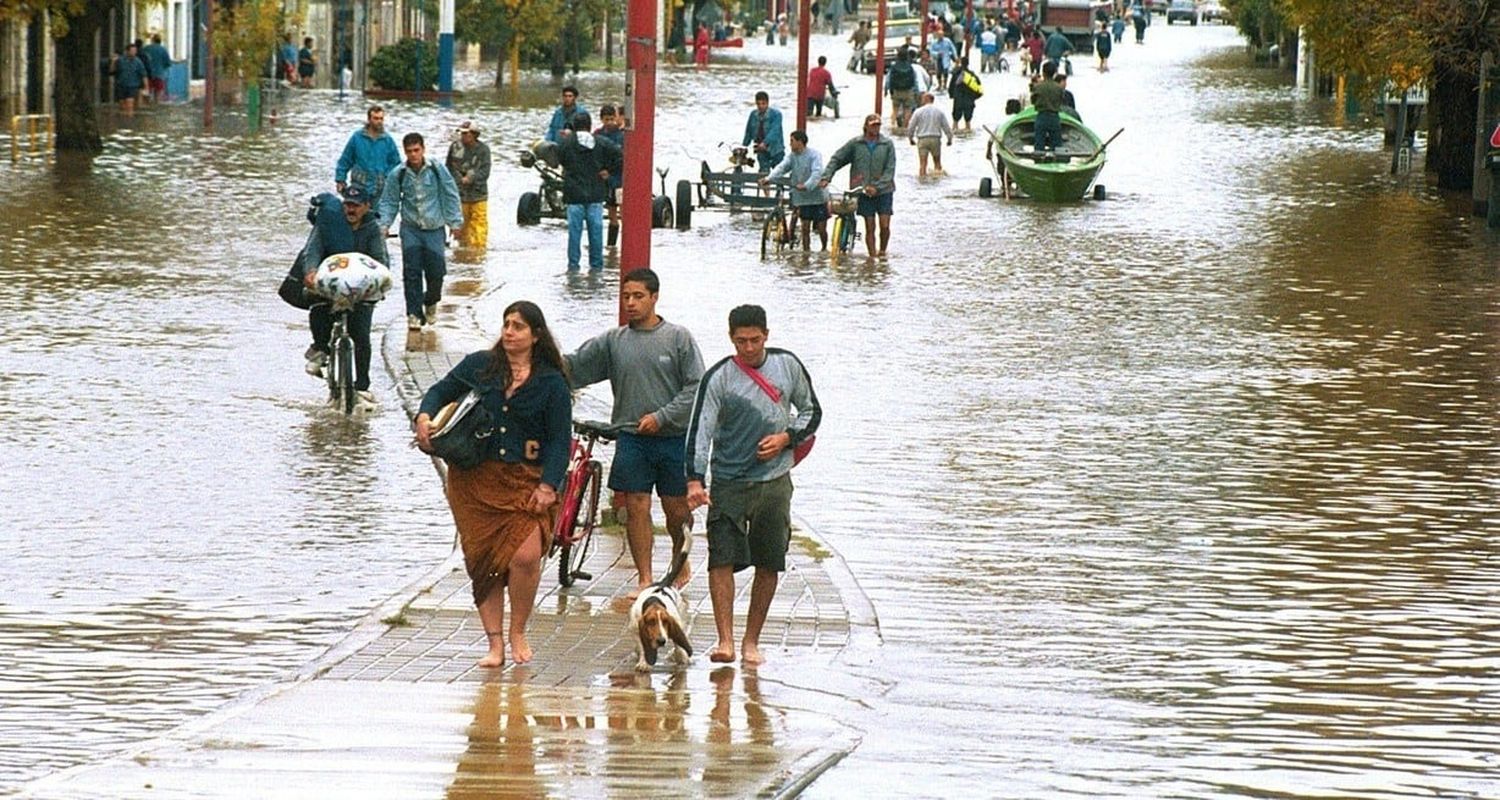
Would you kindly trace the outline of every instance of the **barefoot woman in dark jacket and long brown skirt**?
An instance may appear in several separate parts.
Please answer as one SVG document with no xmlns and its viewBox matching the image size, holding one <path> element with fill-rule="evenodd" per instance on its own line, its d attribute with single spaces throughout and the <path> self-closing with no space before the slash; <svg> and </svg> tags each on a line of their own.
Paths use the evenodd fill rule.
<svg viewBox="0 0 1500 800">
<path fill-rule="evenodd" d="M 506 308 L 495 347 L 470 353 L 422 399 L 417 446 L 432 449 L 432 416 L 470 389 L 483 392 L 495 420 L 486 459 L 448 468 L 447 497 L 459 528 L 464 566 L 484 624 L 489 653 L 480 666 L 506 663 L 506 638 L 516 663 L 531 660 L 526 620 L 542 582 L 542 555 L 552 545 L 556 488 L 567 470 L 573 399 L 546 317 L 536 303 Z M 506 596 L 510 627 L 506 627 Z"/>
</svg>

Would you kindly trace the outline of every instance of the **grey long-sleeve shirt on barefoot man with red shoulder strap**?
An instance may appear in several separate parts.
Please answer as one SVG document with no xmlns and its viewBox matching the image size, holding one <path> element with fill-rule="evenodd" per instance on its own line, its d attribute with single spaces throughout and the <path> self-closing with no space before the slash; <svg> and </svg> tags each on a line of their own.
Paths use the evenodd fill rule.
<svg viewBox="0 0 1500 800">
<path fill-rule="evenodd" d="M 792 468 L 792 449 L 818 432 L 824 410 L 802 362 L 788 350 L 768 347 L 759 372 L 782 393 L 780 402 L 746 375 L 734 357 L 704 374 L 687 428 L 688 480 L 704 480 L 710 467 L 714 480 L 774 480 Z M 790 446 L 770 461 L 758 459 L 760 440 L 782 432 L 792 437 Z"/>
</svg>

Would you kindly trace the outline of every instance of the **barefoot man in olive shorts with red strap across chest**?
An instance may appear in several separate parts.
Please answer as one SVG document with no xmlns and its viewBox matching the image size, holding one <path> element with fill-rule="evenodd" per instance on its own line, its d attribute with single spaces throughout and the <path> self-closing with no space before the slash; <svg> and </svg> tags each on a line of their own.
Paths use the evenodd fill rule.
<svg viewBox="0 0 1500 800">
<path fill-rule="evenodd" d="M 879 117 L 876 117 L 879 125 Z M 768 348 L 765 309 L 729 312 L 735 354 L 698 384 L 687 431 L 687 504 L 708 506 L 708 596 L 718 641 L 708 660 L 735 660 L 735 572 L 754 567 L 740 657 L 765 662 L 760 630 L 792 539 L 792 450 L 818 431 L 813 378 L 788 350 Z M 712 495 L 704 488 L 712 471 Z"/>
</svg>

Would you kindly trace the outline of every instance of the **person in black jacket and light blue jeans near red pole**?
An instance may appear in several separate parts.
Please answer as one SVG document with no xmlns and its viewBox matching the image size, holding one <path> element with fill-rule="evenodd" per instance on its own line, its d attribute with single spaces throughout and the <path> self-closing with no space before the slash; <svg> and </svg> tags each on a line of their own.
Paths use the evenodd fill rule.
<svg viewBox="0 0 1500 800">
<path fill-rule="evenodd" d="M 621 171 L 624 159 L 609 140 L 594 138 L 586 111 L 573 114 L 573 129 L 558 141 L 562 164 L 562 203 L 567 206 L 567 270 L 578 272 L 582 237 L 588 228 L 588 272 L 604 270 L 604 200 L 609 176 Z"/>
</svg>

